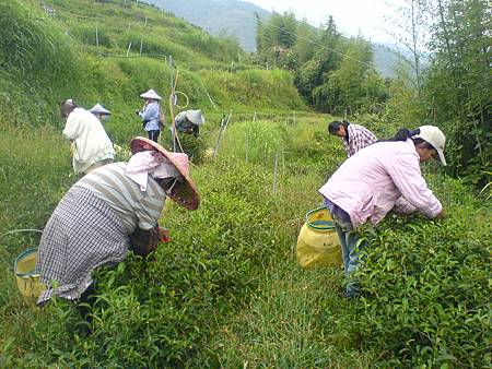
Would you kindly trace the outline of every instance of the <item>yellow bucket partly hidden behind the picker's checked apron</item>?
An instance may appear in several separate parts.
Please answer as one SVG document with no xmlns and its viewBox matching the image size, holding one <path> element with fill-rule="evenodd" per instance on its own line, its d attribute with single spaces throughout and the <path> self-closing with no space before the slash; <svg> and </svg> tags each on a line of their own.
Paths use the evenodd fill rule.
<svg viewBox="0 0 492 369">
<path fill-rule="evenodd" d="M 37 298 L 46 289 L 39 282 L 39 274 L 34 272 L 36 261 L 37 248 L 27 249 L 15 259 L 15 282 L 22 296 Z"/>
</svg>

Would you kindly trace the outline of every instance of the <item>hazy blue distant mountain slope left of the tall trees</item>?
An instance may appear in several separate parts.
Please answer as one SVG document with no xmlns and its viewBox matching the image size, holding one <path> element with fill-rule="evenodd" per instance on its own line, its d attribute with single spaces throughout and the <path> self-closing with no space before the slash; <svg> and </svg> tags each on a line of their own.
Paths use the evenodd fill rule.
<svg viewBox="0 0 492 369">
<path fill-rule="evenodd" d="M 239 0 L 145 0 L 200 26 L 212 35 L 234 36 L 246 51 L 256 50 L 256 20 L 270 12 Z"/>
</svg>

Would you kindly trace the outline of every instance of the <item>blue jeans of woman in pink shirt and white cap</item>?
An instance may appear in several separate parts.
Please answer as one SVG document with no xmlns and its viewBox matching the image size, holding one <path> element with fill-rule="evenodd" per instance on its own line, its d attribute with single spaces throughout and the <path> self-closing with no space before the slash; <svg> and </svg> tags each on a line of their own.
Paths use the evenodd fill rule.
<svg viewBox="0 0 492 369">
<path fill-rule="evenodd" d="M 360 284 L 352 275 L 359 266 L 359 254 L 366 245 L 360 241 L 350 222 L 333 217 L 333 223 L 342 250 L 343 271 L 347 278 L 347 297 L 358 297 Z"/>
</svg>

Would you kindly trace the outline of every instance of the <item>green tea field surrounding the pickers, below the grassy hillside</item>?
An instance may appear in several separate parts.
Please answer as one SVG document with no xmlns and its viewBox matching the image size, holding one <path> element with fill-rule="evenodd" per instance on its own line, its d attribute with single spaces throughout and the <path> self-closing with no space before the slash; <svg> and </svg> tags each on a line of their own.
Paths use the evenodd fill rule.
<svg viewBox="0 0 492 369">
<path fill-rule="evenodd" d="M 154 260 L 129 257 L 97 273 L 89 336 L 70 303 L 38 311 L 19 295 L 12 261 L 37 237 L 3 237 L 0 364 L 488 366 L 490 203 L 425 167 L 447 217 L 391 215 L 363 229 L 371 243 L 365 294 L 347 300 L 341 270 L 302 271 L 293 254 L 304 214 L 320 204 L 317 189 L 343 160 L 340 143 L 326 134 L 329 117 L 259 118 L 232 122 L 216 159 L 192 166 L 201 206 L 166 206 L 161 223 L 172 242 Z M 210 130 L 203 139 L 215 138 Z M 0 230 L 42 229 L 75 181 L 69 146 L 50 128 L 2 128 L 0 143 Z"/>
</svg>

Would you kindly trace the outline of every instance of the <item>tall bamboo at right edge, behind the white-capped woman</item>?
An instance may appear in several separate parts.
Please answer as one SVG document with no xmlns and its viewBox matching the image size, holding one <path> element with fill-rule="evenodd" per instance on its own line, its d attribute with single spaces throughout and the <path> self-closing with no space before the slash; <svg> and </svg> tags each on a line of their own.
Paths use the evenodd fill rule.
<svg viewBox="0 0 492 369">
<path fill-rule="evenodd" d="M 481 186 L 492 160 L 492 11 L 488 0 L 435 0 L 432 11 L 426 103 L 448 133 L 449 171 Z"/>
</svg>

